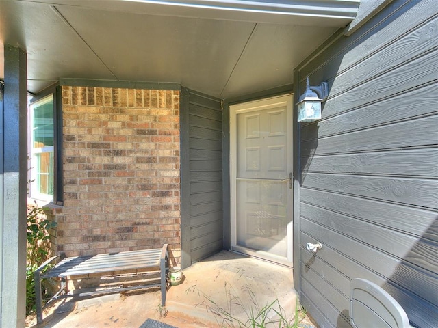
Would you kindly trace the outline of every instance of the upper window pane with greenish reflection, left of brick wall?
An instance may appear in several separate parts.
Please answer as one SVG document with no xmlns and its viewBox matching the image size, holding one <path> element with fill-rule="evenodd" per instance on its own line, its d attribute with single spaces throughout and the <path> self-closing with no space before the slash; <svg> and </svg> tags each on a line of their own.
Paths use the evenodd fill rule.
<svg viewBox="0 0 438 328">
<path fill-rule="evenodd" d="M 34 148 L 53 146 L 53 97 L 34 107 L 32 139 Z"/>
</svg>

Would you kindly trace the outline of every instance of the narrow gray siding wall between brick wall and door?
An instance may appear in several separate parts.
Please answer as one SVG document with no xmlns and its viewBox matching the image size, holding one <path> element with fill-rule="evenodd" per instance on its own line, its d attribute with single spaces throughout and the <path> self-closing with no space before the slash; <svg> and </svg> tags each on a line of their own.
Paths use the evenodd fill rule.
<svg viewBox="0 0 438 328">
<path fill-rule="evenodd" d="M 183 90 L 186 122 L 183 252 L 185 266 L 223 249 L 222 109 L 220 100 Z M 181 113 L 182 114 L 182 113 Z M 185 142 L 184 142 L 185 141 Z M 181 210 L 183 208 L 181 207 Z"/>
</svg>

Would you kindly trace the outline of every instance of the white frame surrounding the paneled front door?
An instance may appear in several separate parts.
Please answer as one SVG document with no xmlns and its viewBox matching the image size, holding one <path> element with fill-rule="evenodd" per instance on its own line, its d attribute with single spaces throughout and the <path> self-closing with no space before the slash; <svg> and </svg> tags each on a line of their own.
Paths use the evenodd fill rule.
<svg viewBox="0 0 438 328">
<path fill-rule="evenodd" d="M 277 100 L 277 101 L 275 101 Z M 237 105 L 229 106 L 229 127 L 230 127 L 230 143 L 229 143 L 229 173 L 230 173 L 230 238 L 231 238 L 231 250 L 237 251 L 249 256 L 254 256 L 257 258 L 262 258 L 263 260 L 269 260 L 277 264 L 283 264 L 287 267 L 293 267 L 293 254 L 294 254 L 294 189 L 288 189 L 287 193 L 288 208 L 287 213 L 291 219 L 291 222 L 287 226 L 287 260 L 280 256 L 275 256 L 268 254 L 264 251 L 253 251 L 245 247 L 237 245 L 237 115 L 240 113 L 247 113 L 251 111 L 257 111 L 260 109 L 268 109 L 269 107 L 274 107 L 276 105 L 285 104 L 287 107 L 287 135 L 289 150 L 287 152 L 288 157 L 288 172 L 294 172 L 294 97 L 292 92 L 287 94 L 282 94 L 280 96 L 272 96 L 268 98 L 263 98 L 259 100 L 253 100 L 248 102 L 242 102 Z M 292 180 L 293 182 L 293 180 Z"/>
</svg>

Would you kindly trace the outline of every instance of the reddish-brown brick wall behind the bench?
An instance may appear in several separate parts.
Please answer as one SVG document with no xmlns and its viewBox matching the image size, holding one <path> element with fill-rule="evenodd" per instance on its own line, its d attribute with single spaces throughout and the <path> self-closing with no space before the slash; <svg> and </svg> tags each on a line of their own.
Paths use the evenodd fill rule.
<svg viewBox="0 0 438 328">
<path fill-rule="evenodd" d="M 62 87 L 67 256 L 170 246 L 181 257 L 179 91 Z"/>
</svg>

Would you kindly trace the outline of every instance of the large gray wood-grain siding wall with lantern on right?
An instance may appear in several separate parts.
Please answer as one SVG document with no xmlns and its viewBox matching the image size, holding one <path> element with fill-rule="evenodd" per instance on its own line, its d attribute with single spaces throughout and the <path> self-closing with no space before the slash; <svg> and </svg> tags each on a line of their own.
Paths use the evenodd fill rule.
<svg viewBox="0 0 438 328">
<path fill-rule="evenodd" d="M 321 327 L 350 327 L 355 277 L 438 327 L 437 58 L 437 2 L 394 0 L 294 70 L 297 98 L 307 76 L 330 90 L 322 120 L 298 125 L 294 277 Z"/>
</svg>

